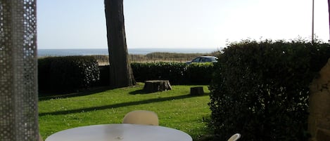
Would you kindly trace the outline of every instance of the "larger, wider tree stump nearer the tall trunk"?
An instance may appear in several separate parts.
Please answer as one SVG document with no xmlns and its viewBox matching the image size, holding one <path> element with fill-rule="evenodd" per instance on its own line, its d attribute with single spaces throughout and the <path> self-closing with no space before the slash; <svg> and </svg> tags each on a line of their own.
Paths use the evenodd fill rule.
<svg viewBox="0 0 330 141">
<path fill-rule="evenodd" d="M 149 80 L 145 81 L 144 90 L 153 93 L 163 90 L 172 90 L 172 86 L 168 80 Z"/>
</svg>

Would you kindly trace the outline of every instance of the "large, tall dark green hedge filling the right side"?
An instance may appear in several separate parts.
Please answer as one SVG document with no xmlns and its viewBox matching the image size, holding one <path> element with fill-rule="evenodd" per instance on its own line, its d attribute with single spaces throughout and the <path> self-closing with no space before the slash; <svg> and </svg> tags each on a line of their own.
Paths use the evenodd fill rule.
<svg viewBox="0 0 330 141">
<path fill-rule="evenodd" d="M 242 41 L 218 56 L 210 84 L 210 126 L 218 140 L 307 140 L 309 85 L 329 45 Z"/>
</svg>

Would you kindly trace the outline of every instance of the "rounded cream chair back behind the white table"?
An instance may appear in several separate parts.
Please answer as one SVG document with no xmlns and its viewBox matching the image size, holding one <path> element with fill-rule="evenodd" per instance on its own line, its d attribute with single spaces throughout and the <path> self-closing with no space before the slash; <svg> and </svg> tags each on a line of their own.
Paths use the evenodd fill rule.
<svg viewBox="0 0 330 141">
<path fill-rule="evenodd" d="M 127 113 L 122 123 L 144 124 L 158 126 L 158 116 L 155 112 L 146 110 L 136 110 Z"/>
</svg>

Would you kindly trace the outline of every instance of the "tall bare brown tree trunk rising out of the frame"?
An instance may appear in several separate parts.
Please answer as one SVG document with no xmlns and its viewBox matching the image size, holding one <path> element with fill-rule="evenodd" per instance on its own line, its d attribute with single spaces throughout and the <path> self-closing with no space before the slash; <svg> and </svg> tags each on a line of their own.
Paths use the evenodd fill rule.
<svg viewBox="0 0 330 141">
<path fill-rule="evenodd" d="M 129 65 L 123 0 L 104 0 L 110 62 L 110 86 L 120 88 L 136 84 Z"/>
</svg>

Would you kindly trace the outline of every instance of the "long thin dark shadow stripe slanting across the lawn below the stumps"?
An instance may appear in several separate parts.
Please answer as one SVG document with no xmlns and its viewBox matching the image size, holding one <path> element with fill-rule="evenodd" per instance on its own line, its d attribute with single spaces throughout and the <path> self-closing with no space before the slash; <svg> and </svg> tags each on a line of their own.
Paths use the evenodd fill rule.
<svg viewBox="0 0 330 141">
<path fill-rule="evenodd" d="M 204 94 L 207 95 L 207 94 Z M 99 106 L 99 107 L 89 107 L 89 108 L 82 108 L 82 109 L 72 109 L 68 111 L 58 111 L 58 112 L 46 112 L 46 113 L 39 113 L 39 116 L 46 116 L 46 115 L 61 115 L 61 114 L 75 114 L 80 112 L 91 112 L 96 110 L 103 110 L 103 109 L 111 109 L 111 108 L 118 108 L 118 107 L 126 107 L 126 106 L 132 106 L 132 105 L 141 105 L 141 104 L 148 104 L 151 102 L 163 102 L 167 100 L 179 100 L 184 98 L 193 98 L 196 96 L 203 96 L 203 95 L 179 95 L 175 97 L 169 97 L 169 98 L 154 98 L 151 100 L 142 100 L 137 102 L 124 102 L 124 103 L 118 103 L 114 105 L 105 105 L 105 106 Z"/>
</svg>

